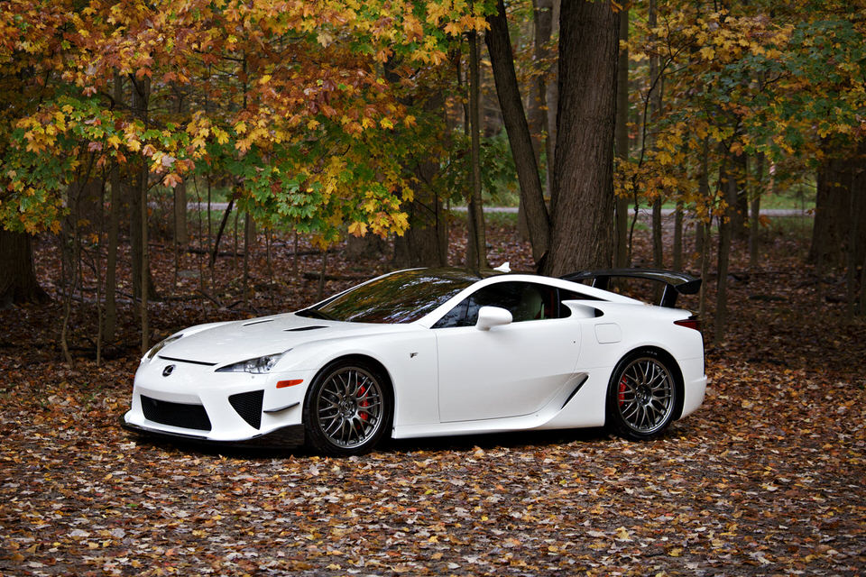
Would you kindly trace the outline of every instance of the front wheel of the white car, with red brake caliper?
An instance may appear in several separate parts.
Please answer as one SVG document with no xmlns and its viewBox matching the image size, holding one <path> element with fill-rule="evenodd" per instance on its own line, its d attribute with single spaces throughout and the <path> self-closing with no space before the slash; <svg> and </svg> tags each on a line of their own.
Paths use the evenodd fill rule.
<svg viewBox="0 0 866 577">
<path fill-rule="evenodd" d="M 304 402 L 308 444 L 336 456 L 369 453 L 389 426 L 393 402 L 382 375 L 365 362 L 332 362 L 310 385 Z"/>
</svg>

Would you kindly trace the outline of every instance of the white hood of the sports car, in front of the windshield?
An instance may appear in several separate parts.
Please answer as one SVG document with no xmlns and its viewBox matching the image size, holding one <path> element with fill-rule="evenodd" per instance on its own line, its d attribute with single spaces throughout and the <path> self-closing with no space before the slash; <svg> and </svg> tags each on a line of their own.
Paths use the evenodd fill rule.
<svg viewBox="0 0 866 577">
<path fill-rule="evenodd" d="M 223 365 L 282 353 L 303 343 L 350 334 L 380 333 L 394 325 L 344 323 L 297 316 L 294 313 L 221 323 L 169 343 L 157 354 L 165 359 Z M 180 331 L 184 334 L 186 331 Z"/>
</svg>

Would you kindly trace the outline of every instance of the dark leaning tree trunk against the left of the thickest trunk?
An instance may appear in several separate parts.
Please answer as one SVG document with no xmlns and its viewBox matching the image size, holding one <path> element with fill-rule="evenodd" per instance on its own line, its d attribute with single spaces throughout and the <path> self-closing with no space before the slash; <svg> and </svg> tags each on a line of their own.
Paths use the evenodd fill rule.
<svg viewBox="0 0 866 577">
<path fill-rule="evenodd" d="M 485 40 L 493 67 L 496 94 L 499 96 L 502 120 L 508 133 L 511 156 L 514 158 L 514 166 L 517 168 L 517 178 L 521 186 L 521 203 L 526 210 L 532 257 L 539 262 L 548 251 L 550 221 L 547 206 L 544 205 L 539 166 L 535 161 L 535 152 L 532 150 L 530 128 L 523 113 L 521 91 L 514 72 L 511 39 L 502 0 L 497 3 L 496 14 L 487 16 L 487 23 L 490 25 L 490 30 L 487 31 Z"/>
</svg>

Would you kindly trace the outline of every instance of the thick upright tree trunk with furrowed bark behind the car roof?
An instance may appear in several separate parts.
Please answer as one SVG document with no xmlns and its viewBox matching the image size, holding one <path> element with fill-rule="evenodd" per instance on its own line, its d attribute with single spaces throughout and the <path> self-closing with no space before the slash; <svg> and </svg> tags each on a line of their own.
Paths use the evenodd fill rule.
<svg viewBox="0 0 866 577">
<path fill-rule="evenodd" d="M 609 3 L 563 3 L 553 197 L 544 270 L 552 276 L 610 266 L 613 128 L 619 14 Z"/>
</svg>

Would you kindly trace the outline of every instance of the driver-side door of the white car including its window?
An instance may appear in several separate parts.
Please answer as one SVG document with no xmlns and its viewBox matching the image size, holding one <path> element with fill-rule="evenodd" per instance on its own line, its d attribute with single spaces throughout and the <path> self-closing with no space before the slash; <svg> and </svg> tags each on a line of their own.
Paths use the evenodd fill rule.
<svg viewBox="0 0 866 577">
<path fill-rule="evenodd" d="M 485 306 L 509 310 L 513 321 L 475 328 Z M 544 407 L 576 367 L 580 325 L 560 317 L 567 314 L 556 288 L 507 281 L 479 289 L 443 316 L 433 328 L 440 419 L 520 417 Z"/>
</svg>

